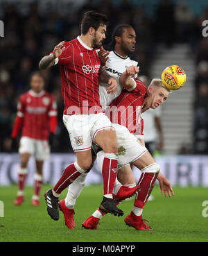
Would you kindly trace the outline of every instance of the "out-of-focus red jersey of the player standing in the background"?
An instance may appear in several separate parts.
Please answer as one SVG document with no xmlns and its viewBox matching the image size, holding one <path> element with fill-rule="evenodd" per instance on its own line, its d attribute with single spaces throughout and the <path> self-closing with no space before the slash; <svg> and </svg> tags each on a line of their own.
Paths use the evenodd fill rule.
<svg viewBox="0 0 208 256">
<path fill-rule="evenodd" d="M 17 116 L 23 117 L 22 136 L 47 140 L 49 137 L 49 118 L 57 115 L 53 96 L 42 91 L 32 90 L 22 94 L 17 105 Z"/>
</svg>

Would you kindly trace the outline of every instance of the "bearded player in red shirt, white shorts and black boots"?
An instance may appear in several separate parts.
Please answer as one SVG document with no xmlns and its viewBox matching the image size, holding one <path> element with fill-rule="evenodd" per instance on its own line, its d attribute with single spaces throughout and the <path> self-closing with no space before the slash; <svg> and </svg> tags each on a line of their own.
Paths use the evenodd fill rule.
<svg viewBox="0 0 208 256">
<path fill-rule="evenodd" d="M 108 83 L 108 93 L 117 89 L 116 80 L 101 67 L 97 49 L 105 39 L 107 17 L 94 11 L 85 12 L 81 22 L 81 35 L 69 42 L 60 42 L 53 53 L 40 60 L 40 69 L 60 65 L 62 97 L 64 99 L 63 121 L 77 161 L 70 164 L 53 189 L 46 191 L 47 211 L 52 219 L 59 219 L 58 198 L 73 180 L 86 173 L 92 165 L 92 142 L 103 151 L 103 201 L 100 207 L 114 215 L 123 215 L 112 198 L 116 180 L 117 151 L 116 133 L 112 123 L 103 113 L 98 83 Z M 92 129 L 95 130 L 92 139 Z"/>
</svg>

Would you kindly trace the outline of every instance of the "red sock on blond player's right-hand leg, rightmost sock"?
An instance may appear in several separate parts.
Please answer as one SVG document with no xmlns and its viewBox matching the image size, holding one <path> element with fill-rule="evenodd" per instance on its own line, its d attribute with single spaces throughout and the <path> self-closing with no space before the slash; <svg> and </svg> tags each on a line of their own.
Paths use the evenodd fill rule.
<svg viewBox="0 0 208 256">
<path fill-rule="evenodd" d="M 141 177 L 138 182 L 140 190 L 137 192 L 137 196 L 135 197 L 134 206 L 141 209 L 144 208 L 144 205 L 146 204 L 146 201 L 153 190 L 157 175 L 158 173 L 141 173 Z"/>
</svg>

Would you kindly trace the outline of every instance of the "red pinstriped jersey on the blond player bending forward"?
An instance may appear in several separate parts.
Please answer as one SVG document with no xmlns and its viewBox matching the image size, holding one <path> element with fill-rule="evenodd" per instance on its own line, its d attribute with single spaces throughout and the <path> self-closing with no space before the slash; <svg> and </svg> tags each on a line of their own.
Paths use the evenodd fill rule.
<svg viewBox="0 0 208 256">
<path fill-rule="evenodd" d="M 105 114 L 112 123 L 119 123 L 128 128 L 130 133 L 143 135 L 144 121 L 141 118 L 141 108 L 146 94 L 146 86 L 135 80 L 136 87 L 132 91 L 123 89 L 121 94 L 112 101 Z"/>
</svg>

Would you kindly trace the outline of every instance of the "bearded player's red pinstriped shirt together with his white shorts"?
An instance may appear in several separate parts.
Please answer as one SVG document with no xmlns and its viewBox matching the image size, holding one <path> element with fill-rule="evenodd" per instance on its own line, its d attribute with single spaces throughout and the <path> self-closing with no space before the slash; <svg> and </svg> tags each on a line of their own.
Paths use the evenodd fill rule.
<svg viewBox="0 0 208 256">
<path fill-rule="evenodd" d="M 99 99 L 98 72 L 101 61 L 96 49 L 84 44 L 80 37 L 64 43 L 64 49 L 55 64 L 60 64 L 63 121 L 73 151 L 87 151 L 92 146 L 91 130 L 112 128 L 103 114 Z"/>
</svg>

